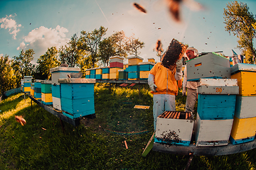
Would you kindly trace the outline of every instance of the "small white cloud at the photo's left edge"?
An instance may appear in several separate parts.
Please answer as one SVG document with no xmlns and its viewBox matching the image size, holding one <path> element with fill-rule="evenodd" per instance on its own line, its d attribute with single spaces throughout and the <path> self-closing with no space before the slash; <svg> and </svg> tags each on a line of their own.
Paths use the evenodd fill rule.
<svg viewBox="0 0 256 170">
<path fill-rule="evenodd" d="M 0 18 L 0 28 L 9 29 L 9 33 L 13 34 L 13 38 L 16 40 L 16 35 L 18 31 L 20 31 L 18 27 L 21 27 L 21 24 L 17 25 L 16 21 L 14 21 L 12 18 L 14 18 L 12 15 L 6 16 L 6 18 Z"/>
</svg>

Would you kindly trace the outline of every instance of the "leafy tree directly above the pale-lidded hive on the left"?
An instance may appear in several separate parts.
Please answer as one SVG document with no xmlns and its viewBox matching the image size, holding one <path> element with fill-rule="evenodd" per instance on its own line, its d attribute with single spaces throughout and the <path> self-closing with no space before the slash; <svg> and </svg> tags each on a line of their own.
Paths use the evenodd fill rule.
<svg viewBox="0 0 256 170">
<path fill-rule="evenodd" d="M 84 50 L 87 49 L 87 46 L 83 46 L 82 42 L 76 34 L 71 37 L 71 40 L 68 42 L 68 46 L 60 47 L 60 62 L 68 64 L 70 67 L 78 66 L 78 61 L 84 55 Z"/>
</svg>

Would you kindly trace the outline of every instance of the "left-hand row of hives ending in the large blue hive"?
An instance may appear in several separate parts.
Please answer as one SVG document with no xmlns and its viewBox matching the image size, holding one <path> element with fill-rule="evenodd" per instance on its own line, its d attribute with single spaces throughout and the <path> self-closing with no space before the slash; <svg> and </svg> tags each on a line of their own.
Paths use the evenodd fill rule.
<svg viewBox="0 0 256 170">
<path fill-rule="evenodd" d="M 95 79 L 70 78 L 70 75 L 78 72 L 79 68 L 55 67 L 50 69 L 52 80 L 35 80 L 32 83 L 32 77 L 29 77 L 28 93 L 41 103 L 62 111 L 68 118 L 94 114 Z"/>
</svg>

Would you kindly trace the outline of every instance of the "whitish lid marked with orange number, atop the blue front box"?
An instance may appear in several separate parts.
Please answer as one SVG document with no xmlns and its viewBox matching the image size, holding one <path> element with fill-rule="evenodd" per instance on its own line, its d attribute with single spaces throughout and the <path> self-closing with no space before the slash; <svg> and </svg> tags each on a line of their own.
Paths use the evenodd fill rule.
<svg viewBox="0 0 256 170">
<path fill-rule="evenodd" d="M 200 86 L 238 86 L 238 79 L 200 79 Z"/>
</svg>

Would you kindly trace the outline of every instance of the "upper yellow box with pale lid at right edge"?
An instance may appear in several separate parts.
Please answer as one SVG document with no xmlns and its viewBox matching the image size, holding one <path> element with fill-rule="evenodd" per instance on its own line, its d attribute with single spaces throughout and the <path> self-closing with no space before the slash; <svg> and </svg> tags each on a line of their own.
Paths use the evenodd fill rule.
<svg viewBox="0 0 256 170">
<path fill-rule="evenodd" d="M 230 68 L 231 78 L 238 79 L 241 96 L 256 96 L 256 65 L 238 63 Z"/>
</svg>

